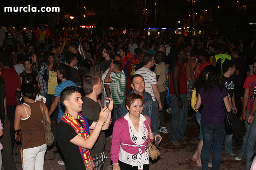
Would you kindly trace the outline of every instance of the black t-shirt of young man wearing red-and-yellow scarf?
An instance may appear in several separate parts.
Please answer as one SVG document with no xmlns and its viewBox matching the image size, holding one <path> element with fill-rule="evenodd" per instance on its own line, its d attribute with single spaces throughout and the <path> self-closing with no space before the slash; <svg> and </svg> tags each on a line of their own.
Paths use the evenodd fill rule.
<svg viewBox="0 0 256 170">
<path fill-rule="evenodd" d="M 76 119 L 80 125 L 82 123 Z M 88 125 L 92 125 L 91 120 L 87 119 Z M 77 133 L 67 123 L 60 121 L 56 129 L 56 140 L 60 150 L 66 160 L 66 170 L 85 170 L 83 158 L 80 154 L 79 147 L 70 142 L 71 139 L 76 137 Z"/>
</svg>

